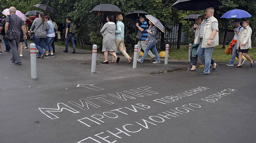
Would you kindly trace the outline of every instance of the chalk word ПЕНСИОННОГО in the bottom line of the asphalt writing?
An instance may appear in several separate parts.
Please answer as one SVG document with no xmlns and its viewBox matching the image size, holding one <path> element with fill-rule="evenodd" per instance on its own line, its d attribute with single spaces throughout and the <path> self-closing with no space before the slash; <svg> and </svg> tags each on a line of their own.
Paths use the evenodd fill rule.
<svg viewBox="0 0 256 143">
<path fill-rule="evenodd" d="M 189 106 L 189 107 L 185 107 L 185 106 Z M 184 107 L 184 108 L 182 108 L 182 107 Z M 193 108 L 193 109 L 191 109 L 191 108 Z M 163 112 L 157 114 L 156 116 L 149 116 L 148 117 L 149 120 L 142 119 L 143 122 L 135 122 L 133 124 L 125 124 L 122 126 L 122 129 L 115 128 L 118 131 L 117 133 L 113 133 L 114 131 L 107 130 L 107 132 L 109 133 L 108 135 L 102 136 L 105 132 L 100 132 L 98 134 L 95 134 L 94 136 L 98 137 L 99 139 L 103 140 L 104 142 L 113 143 L 113 142 L 117 141 L 116 138 L 122 139 L 123 138 L 122 136 L 124 136 L 124 135 L 131 136 L 130 134 L 132 134 L 132 133 L 136 133 L 136 135 L 137 135 L 137 132 L 141 131 L 143 128 L 149 129 L 150 126 L 148 125 L 148 123 L 150 125 L 157 126 L 159 123 L 162 123 L 162 122 L 166 121 L 167 119 L 171 120 L 172 117 L 177 118 L 178 116 L 181 116 L 184 113 L 189 113 L 190 110 L 194 111 L 194 109 L 197 109 L 197 108 L 201 108 L 201 106 L 198 104 L 189 103 L 189 105 L 182 105 L 181 107 L 176 107 L 174 110 L 169 109 L 169 110 L 163 111 Z M 190 109 L 190 110 L 188 110 L 188 109 Z M 141 127 L 143 127 L 143 128 L 141 128 Z M 129 128 L 129 129 L 127 129 L 127 128 Z M 86 140 L 95 141 L 97 143 L 102 143 L 101 141 L 99 141 L 98 138 L 95 139 L 92 136 L 89 136 L 81 141 L 78 141 L 77 143 L 85 143 Z M 110 140 L 114 140 L 114 141 L 110 141 Z"/>
</svg>

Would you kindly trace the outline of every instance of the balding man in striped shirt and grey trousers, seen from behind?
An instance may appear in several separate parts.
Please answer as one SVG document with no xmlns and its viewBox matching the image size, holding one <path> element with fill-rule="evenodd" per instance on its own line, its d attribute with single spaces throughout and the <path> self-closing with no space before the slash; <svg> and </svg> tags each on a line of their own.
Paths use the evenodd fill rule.
<svg viewBox="0 0 256 143">
<path fill-rule="evenodd" d="M 22 22 L 21 18 L 15 14 L 16 8 L 10 7 L 9 12 L 10 12 L 10 16 L 7 16 L 5 31 L 14 32 L 14 39 L 8 41 L 12 49 L 11 61 L 12 63 L 15 63 L 15 65 L 21 65 L 21 59 L 18 52 L 19 42 L 20 42 L 20 32 L 23 32 L 23 35 L 24 35 L 23 38 L 27 39 L 26 31 L 24 28 L 24 23 Z M 22 29 L 22 31 L 20 29 Z"/>
</svg>

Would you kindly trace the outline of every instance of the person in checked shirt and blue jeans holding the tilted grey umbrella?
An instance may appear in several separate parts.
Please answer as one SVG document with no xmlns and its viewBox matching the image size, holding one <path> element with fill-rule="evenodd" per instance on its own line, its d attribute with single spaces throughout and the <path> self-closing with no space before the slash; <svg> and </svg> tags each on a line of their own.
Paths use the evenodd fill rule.
<svg viewBox="0 0 256 143">
<path fill-rule="evenodd" d="M 148 51 L 150 49 L 153 50 L 153 52 L 155 53 L 155 56 L 156 56 L 156 61 L 153 62 L 154 64 L 159 64 L 160 63 L 160 57 L 159 57 L 159 54 L 157 52 L 157 39 L 156 39 L 156 35 L 158 33 L 158 29 L 157 27 L 151 22 L 149 21 L 149 28 L 147 30 L 148 32 L 148 38 L 146 39 L 146 42 L 147 42 L 147 47 L 145 48 L 145 51 L 142 55 L 142 57 L 140 59 L 137 59 L 140 63 L 143 63 L 143 61 L 145 60 L 147 54 L 148 54 Z"/>
</svg>

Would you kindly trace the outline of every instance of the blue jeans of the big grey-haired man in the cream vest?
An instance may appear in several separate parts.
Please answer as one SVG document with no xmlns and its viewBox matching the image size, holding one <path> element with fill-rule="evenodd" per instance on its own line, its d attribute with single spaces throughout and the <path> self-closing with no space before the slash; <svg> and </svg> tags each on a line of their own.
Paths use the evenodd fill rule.
<svg viewBox="0 0 256 143">
<path fill-rule="evenodd" d="M 199 59 L 201 60 L 202 64 L 204 65 L 204 73 L 209 74 L 210 73 L 210 66 L 211 66 L 211 60 L 212 60 L 212 51 L 214 47 L 210 48 L 202 48 L 202 42 L 203 39 L 201 39 L 201 42 L 199 44 L 199 47 L 196 51 L 196 54 L 198 55 Z"/>
</svg>

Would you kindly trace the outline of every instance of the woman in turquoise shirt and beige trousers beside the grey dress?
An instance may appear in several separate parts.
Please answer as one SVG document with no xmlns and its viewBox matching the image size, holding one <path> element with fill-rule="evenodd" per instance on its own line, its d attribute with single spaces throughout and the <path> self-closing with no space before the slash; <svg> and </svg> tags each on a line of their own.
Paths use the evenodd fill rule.
<svg viewBox="0 0 256 143">
<path fill-rule="evenodd" d="M 120 52 L 125 56 L 125 58 L 128 60 L 128 64 L 131 63 L 132 58 L 126 53 L 126 50 L 124 49 L 124 31 L 125 31 L 125 25 L 122 23 L 123 16 L 122 14 L 116 15 L 116 48 L 119 48 Z M 116 51 L 115 51 L 116 52 Z M 110 63 L 115 63 L 116 59 L 113 56 L 113 60 L 110 61 Z"/>
</svg>

